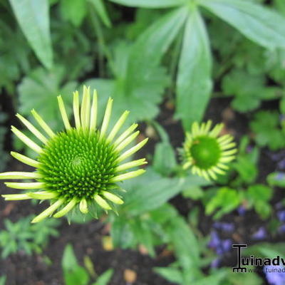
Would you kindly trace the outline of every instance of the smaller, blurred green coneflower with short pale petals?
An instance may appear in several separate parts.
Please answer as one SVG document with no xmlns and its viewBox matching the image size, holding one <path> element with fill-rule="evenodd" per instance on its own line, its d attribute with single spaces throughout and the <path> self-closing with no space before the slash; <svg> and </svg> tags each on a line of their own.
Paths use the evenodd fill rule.
<svg viewBox="0 0 285 285">
<path fill-rule="evenodd" d="M 232 135 L 219 136 L 224 124 L 212 126 L 212 121 L 199 125 L 192 124 L 191 133 L 186 133 L 183 145 L 182 158 L 183 168 L 192 168 L 192 173 L 209 180 L 217 179 L 216 174 L 225 174 L 228 170 L 227 162 L 234 160 L 237 149 Z"/>
</svg>

